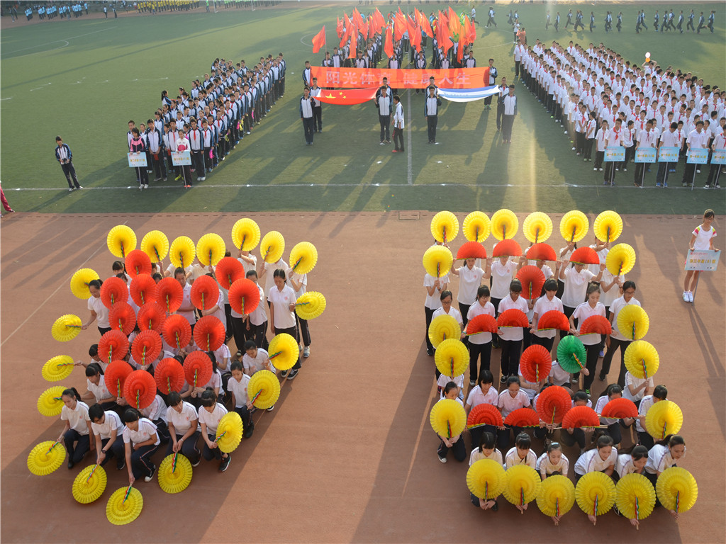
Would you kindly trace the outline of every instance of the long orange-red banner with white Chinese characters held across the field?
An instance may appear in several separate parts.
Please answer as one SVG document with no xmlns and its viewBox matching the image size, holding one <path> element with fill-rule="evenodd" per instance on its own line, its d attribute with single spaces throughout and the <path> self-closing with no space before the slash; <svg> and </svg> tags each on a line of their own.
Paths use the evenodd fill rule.
<svg viewBox="0 0 726 544">
<path fill-rule="evenodd" d="M 489 67 L 450 68 L 448 70 L 389 70 L 388 68 L 311 67 L 311 77 L 321 87 L 361 88 L 380 86 L 388 78 L 391 88 L 425 88 L 433 76 L 436 86 L 478 88 L 489 86 Z"/>
</svg>

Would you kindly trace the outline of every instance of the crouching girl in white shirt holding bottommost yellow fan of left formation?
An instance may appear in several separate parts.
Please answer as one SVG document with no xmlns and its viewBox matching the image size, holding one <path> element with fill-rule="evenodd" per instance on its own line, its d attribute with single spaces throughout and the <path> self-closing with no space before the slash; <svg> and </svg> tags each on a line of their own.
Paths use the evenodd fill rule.
<svg viewBox="0 0 726 544">
<path fill-rule="evenodd" d="M 123 421 L 126 423 L 123 429 L 123 447 L 126 450 L 129 485 L 142 476 L 144 482 L 151 482 L 156 471 L 156 466 L 152 463 L 151 458 L 160 442 L 156 425 L 146 418 L 140 418 L 139 412 L 134 408 L 129 408 L 123 413 Z M 134 443 L 133 447 L 131 442 Z"/>
</svg>

